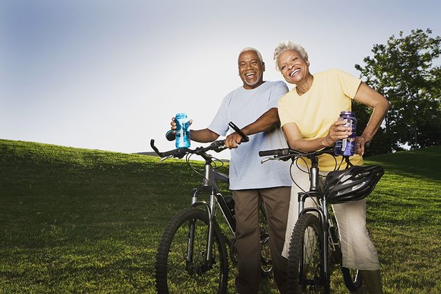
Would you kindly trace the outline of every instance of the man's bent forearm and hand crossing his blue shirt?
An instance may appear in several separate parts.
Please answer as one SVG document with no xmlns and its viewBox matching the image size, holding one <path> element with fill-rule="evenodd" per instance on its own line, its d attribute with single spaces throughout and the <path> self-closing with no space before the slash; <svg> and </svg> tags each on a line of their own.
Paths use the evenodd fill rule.
<svg viewBox="0 0 441 294">
<path fill-rule="evenodd" d="M 241 131 L 246 136 L 260 133 L 261 131 L 269 131 L 279 124 L 279 113 L 277 108 L 271 108 L 263 113 L 257 120 L 250 123 L 246 127 L 243 127 Z M 193 136 L 193 135 L 192 135 Z M 241 144 L 242 137 L 236 132 L 230 134 L 225 138 L 225 146 L 228 148 L 237 148 L 237 145 Z"/>
</svg>

